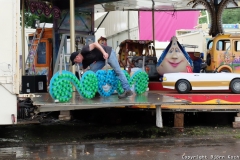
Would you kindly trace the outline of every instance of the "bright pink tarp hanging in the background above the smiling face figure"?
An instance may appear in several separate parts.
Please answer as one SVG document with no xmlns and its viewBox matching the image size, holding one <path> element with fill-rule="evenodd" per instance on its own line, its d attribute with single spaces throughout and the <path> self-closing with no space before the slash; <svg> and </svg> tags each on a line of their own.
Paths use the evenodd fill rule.
<svg viewBox="0 0 240 160">
<path fill-rule="evenodd" d="M 155 12 L 155 40 L 166 42 L 178 29 L 194 29 L 199 11 Z M 152 40 L 152 12 L 139 12 L 139 38 Z"/>
</svg>

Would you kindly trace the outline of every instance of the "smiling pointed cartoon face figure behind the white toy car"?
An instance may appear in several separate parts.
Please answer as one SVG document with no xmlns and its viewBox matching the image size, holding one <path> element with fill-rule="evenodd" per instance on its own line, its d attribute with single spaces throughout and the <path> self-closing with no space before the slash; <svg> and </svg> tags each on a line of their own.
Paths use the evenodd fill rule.
<svg viewBox="0 0 240 160">
<path fill-rule="evenodd" d="M 157 67 L 158 73 L 163 75 L 164 73 L 185 72 L 187 66 L 190 66 L 190 64 L 179 48 L 177 40 L 172 39 L 171 47 Z"/>
</svg>

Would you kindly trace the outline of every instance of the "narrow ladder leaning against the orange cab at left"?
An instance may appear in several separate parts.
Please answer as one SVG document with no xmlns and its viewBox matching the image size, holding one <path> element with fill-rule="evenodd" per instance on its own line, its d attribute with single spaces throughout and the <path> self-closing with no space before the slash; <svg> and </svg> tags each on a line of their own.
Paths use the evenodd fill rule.
<svg viewBox="0 0 240 160">
<path fill-rule="evenodd" d="M 38 29 L 34 32 L 32 42 L 29 47 L 29 52 L 26 60 L 26 75 L 35 75 L 35 66 L 34 66 L 34 59 L 35 55 L 38 50 L 38 44 L 40 43 L 40 40 L 42 38 L 43 32 L 45 29 L 45 23 L 43 24 L 43 27 L 41 29 L 41 32 L 38 33 Z"/>
</svg>

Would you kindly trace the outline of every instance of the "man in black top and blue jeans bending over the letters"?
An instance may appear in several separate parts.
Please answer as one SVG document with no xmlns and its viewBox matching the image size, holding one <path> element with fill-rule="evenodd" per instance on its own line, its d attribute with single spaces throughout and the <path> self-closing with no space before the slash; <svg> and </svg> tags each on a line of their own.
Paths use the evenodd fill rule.
<svg viewBox="0 0 240 160">
<path fill-rule="evenodd" d="M 102 69 L 105 66 L 105 60 L 108 60 L 108 64 L 116 72 L 124 89 L 124 92 L 119 94 L 118 98 L 126 98 L 133 94 L 112 47 L 103 46 L 95 42 L 84 46 L 81 51 L 73 52 L 70 56 L 70 60 L 72 61 L 72 65 L 75 63 L 82 63 L 83 69 L 86 69 L 89 66 L 90 70 L 93 72 Z"/>
</svg>

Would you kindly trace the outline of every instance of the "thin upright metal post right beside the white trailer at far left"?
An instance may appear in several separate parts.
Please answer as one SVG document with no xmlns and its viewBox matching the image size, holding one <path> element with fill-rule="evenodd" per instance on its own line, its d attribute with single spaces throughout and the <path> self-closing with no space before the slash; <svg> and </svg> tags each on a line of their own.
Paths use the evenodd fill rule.
<svg viewBox="0 0 240 160">
<path fill-rule="evenodd" d="M 24 15 L 24 2 L 22 0 L 22 75 L 25 75 L 25 15 Z"/>
</svg>

